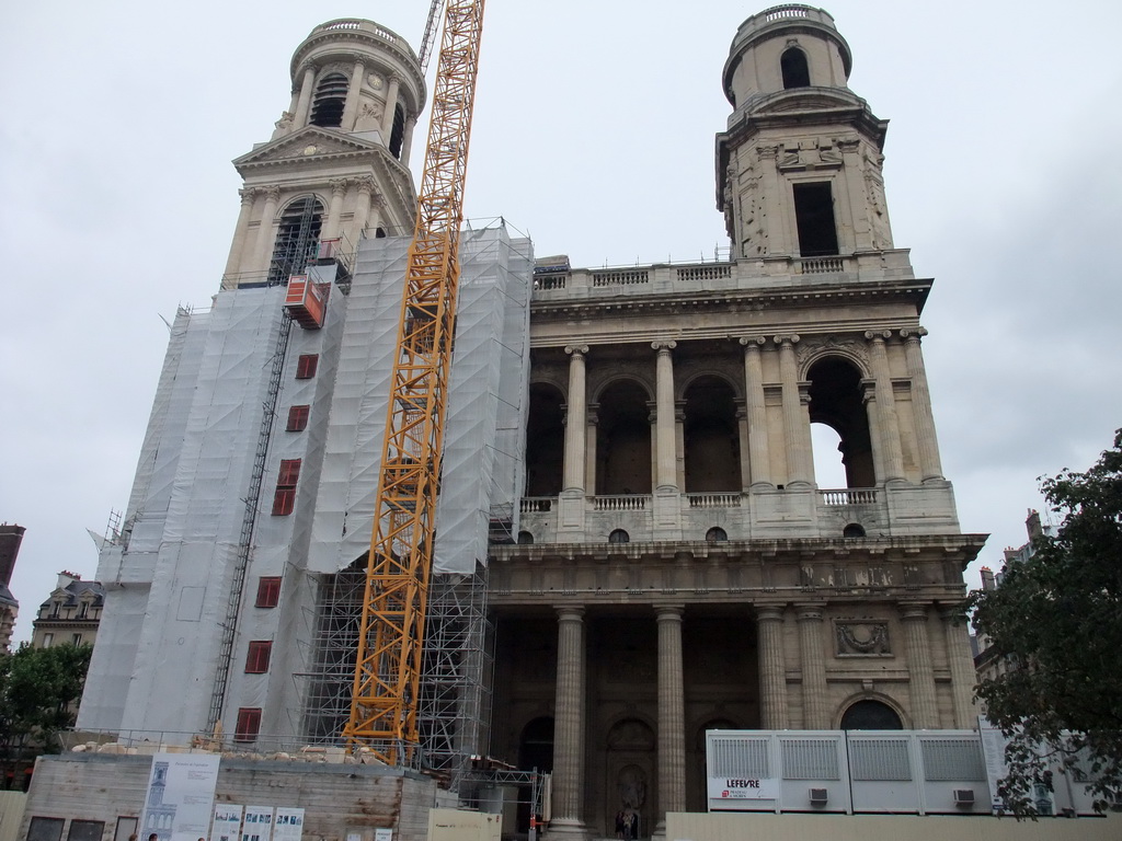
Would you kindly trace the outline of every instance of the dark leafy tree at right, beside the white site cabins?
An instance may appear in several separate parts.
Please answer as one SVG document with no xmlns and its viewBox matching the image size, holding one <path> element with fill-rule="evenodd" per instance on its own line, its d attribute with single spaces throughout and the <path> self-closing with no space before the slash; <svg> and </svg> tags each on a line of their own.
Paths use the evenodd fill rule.
<svg viewBox="0 0 1122 841">
<path fill-rule="evenodd" d="M 1009 671 L 977 696 L 1009 746 L 1000 793 L 1034 814 L 1033 783 L 1060 764 L 1092 784 L 1097 810 L 1122 810 L 1122 429 L 1085 473 L 1041 480 L 1061 525 L 967 607 Z"/>
</svg>

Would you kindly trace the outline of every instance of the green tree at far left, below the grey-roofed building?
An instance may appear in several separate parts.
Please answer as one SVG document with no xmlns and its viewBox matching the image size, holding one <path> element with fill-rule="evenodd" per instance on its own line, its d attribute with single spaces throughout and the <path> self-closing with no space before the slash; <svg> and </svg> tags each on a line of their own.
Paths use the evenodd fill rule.
<svg viewBox="0 0 1122 841">
<path fill-rule="evenodd" d="M 74 726 L 90 667 L 90 645 L 21 645 L 0 656 L 0 758 L 3 771 L 57 752 L 58 732 Z"/>
</svg>

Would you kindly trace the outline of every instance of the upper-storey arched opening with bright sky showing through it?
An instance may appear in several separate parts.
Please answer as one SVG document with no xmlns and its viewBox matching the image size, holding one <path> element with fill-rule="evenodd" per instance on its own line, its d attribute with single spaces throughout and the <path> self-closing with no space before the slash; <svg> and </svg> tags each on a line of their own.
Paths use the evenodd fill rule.
<svg viewBox="0 0 1122 841">
<path fill-rule="evenodd" d="M 862 399 L 861 372 L 847 359 L 826 357 L 810 367 L 807 379 L 810 380 L 810 423 L 825 424 L 837 433 L 845 487 L 874 487 L 873 444 Z M 815 466 L 817 470 L 817 458 Z M 821 480 L 818 484 L 829 487 Z"/>
</svg>

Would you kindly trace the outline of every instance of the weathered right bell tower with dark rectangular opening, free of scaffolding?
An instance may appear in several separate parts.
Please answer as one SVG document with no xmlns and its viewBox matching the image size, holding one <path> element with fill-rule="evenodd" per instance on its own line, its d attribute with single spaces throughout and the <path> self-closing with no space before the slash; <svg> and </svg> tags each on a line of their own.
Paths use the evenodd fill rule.
<svg viewBox="0 0 1122 841">
<path fill-rule="evenodd" d="M 852 65 L 822 9 L 780 6 L 741 25 L 724 71 L 735 111 L 717 137 L 717 207 L 735 259 L 892 249 L 888 121 L 847 86 Z"/>
</svg>

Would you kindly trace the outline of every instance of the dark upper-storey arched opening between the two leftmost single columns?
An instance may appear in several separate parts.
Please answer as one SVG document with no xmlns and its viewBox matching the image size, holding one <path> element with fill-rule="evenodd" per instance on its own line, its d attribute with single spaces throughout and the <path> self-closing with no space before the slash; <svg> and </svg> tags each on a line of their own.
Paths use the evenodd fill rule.
<svg viewBox="0 0 1122 841">
<path fill-rule="evenodd" d="M 615 382 L 600 394 L 596 425 L 596 493 L 651 492 L 649 396 L 637 382 Z"/>
</svg>

